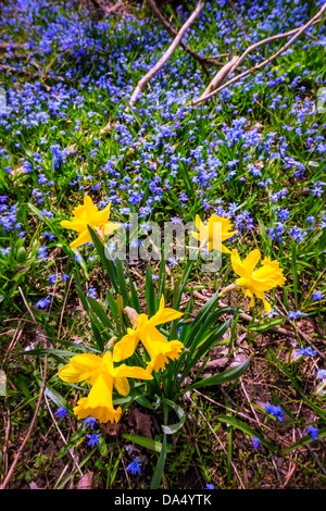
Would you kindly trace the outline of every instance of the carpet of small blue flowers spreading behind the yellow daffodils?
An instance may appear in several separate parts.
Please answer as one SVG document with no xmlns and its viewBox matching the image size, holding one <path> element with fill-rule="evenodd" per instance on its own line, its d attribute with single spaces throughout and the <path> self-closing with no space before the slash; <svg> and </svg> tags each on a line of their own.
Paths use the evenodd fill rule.
<svg viewBox="0 0 326 511">
<path fill-rule="evenodd" d="M 40 211 L 36 259 L 43 267 L 51 244 L 57 242 L 49 225 L 58 226 L 61 208 L 75 205 L 85 191 L 91 191 L 100 209 L 111 202 L 123 222 L 128 213 L 138 212 L 143 229 L 156 214 L 167 212 L 177 224 L 193 220 L 196 209 L 228 216 L 239 241 L 260 228 L 261 208 L 265 208 L 267 242 L 277 250 L 284 246 L 300 250 L 322 236 L 326 228 L 326 125 L 316 116 L 308 84 L 322 88 L 325 79 L 309 57 L 304 63 L 291 62 L 289 49 L 284 54 L 288 66 L 267 66 L 225 87 L 214 109 L 206 103 L 193 110 L 189 100 L 205 89 L 206 76 L 187 52 L 178 50 L 138 98 L 131 115 L 125 103 L 138 77 L 170 45 L 165 29 L 134 14 L 93 21 L 86 4 L 76 10 L 73 2 L 17 3 L 20 9 L 16 2 L 5 2 L 0 13 L 0 42 L 8 45 L 1 64 L 14 66 L 25 76 L 22 83 L 15 72 L 8 73 L 7 108 L 0 111 L 0 130 L 5 135 L 0 142 L 1 176 L 15 185 L 11 189 L 7 183 L 0 196 L 1 263 L 11 257 L 17 240 L 33 238 L 24 209 L 30 202 Z M 237 12 L 251 26 L 248 39 L 230 21 L 227 0 L 206 2 L 184 41 L 200 48 L 203 57 L 240 54 L 249 42 L 305 23 L 311 14 L 308 2 L 293 3 L 294 9 L 280 0 L 273 5 L 239 0 Z M 186 21 L 183 7 L 176 13 L 179 24 Z M 314 37 L 316 29 L 318 38 Z M 214 37 L 209 35 L 202 48 L 203 34 L 210 30 Z M 308 34 L 313 37 L 297 41 L 300 51 L 308 55 L 323 51 L 325 30 L 325 26 L 311 27 Z M 22 35 L 26 42 L 15 46 Z M 276 48 L 271 41 L 266 54 Z M 261 59 L 254 52 L 248 60 L 254 65 Z M 269 128 L 256 123 L 262 108 L 273 120 Z M 106 144 L 100 128 L 109 117 L 113 126 Z M 293 148 L 302 148 L 303 157 Z M 253 199 L 248 200 L 249 196 Z M 72 199 L 65 202 L 66 197 Z M 310 214 L 302 213 L 305 198 L 314 203 Z M 301 213 L 297 199 L 302 201 Z M 82 261 L 82 256 L 76 253 L 75 260 Z M 176 258 L 170 262 L 174 264 L 178 264 Z M 49 270 L 43 297 L 35 300 L 37 310 L 49 308 L 54 300 L 52 289 L 61 279 L 66 282 L 70 275 L 60 277 Z M 325 296 L 325 287 L 318 287 L 312 294 L 315 307 Z M 93 286 L 88 296 L 97 299 Z M 277 313 L 272 311 L 269 316 L 273 314 Z M 305 315 L 300 310 L 288 312 L 292 321 Z M 311 358 L 316 351 L 301 346 L 297 354 Z M 318 370 L 316 376 L 325 378 L 325 370 Z M 283 422 L 280 407 L 268 403 L 265 411 Z M 65 407 L 55 413 L 59 420 L 67 415 Z M 88 425 L 92 431 L 92 417 L 84 421 L 84 427 Z M 313 440 L 318 437 L 315 427 L 306 431 Z M 100 443 L 100 434 L 92 432 L 87 437 L 91 448 Z M 260 441 L 253 437 L 253 447 L 259 448 Z M 137 474 L 140 466 L 136 459 L 126 470 Z"/>
</svg>

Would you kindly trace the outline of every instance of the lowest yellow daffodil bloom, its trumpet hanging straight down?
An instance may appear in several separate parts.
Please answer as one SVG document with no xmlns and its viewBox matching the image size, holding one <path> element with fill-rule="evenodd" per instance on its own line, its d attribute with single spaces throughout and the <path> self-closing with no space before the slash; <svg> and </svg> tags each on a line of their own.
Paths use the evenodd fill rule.
<svg viewBox="0 0 326 511">
<path fill-rule="evenodd" d="M 128 396 L 127 378 L 152 379 L 151 374 L 142 367 L 126 364 L 114 367 L 111 350 L 103 357 L 92 353 L 76 354 L 59 370 L 58 376 L 63 382 L 76 384 L 85 381 L 91 386 L 89 395 L 77 402 L 74 413 L 78 419 L 91 415 L 102 423 L 117 422 L 122 413 L 121 407 L 113 408 L 113 387 L 121 396 Z"/>
</svg>

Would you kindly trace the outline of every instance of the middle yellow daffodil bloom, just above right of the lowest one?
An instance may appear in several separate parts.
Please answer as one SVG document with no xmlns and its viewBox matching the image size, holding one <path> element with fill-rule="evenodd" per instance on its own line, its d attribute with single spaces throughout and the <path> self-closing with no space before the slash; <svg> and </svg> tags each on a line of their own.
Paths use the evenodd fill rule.
<svg viewBox="0 0 326 511">
<path fill-rule="evenodd" d="M 181 312 L 175 311 L 174 309 L 166 309 L 164 297 L 161 298 L 160 308 L 151 319 L 149 319 L 147 314 L 137 314 L 134 309 L 131 311 L 127 310 L 127 312 L 129 312 L 129 317 L 131 319 L 135 329 L 128 328 L 128 333 L 116 342 L 113 352 L 113 360 L 115 362 L 131 357 L 139 340 L 141 340 L 141 344 L 151 359 L 147 365 L 149 373 L 159 371 L 160 369 L 164 370 L 165 364 L 168 363 L 168 359 L 178 359 L 184 348 L 183 342 L 178 340 L 168 341 L 159 332 L 156 326 L 180 317 L 183 315 Z"/>
</svg>

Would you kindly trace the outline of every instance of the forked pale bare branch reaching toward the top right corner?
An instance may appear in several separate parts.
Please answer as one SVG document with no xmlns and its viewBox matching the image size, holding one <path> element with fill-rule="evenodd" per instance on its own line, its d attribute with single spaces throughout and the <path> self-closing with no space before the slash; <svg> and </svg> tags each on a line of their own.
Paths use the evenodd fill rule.
<svg viewBox="0 0 326 511">
<path fill-rule="evenodd" d="M 234 78 L 229 79 L 228 82 L 224 83 L 221 87 L 218 87 L 217 89 L 213 90 L 212 92 L 210 92 L 209 95 L 206 95 L 205 97 L 201 97 L 199 99 L 196 99 L 195 101 L 192 101 L 192 105 L 197 105 L 203 101 L 206 101 L 208 99 L 212 98 L 213 96 L 215 96 L 216 94 L 218 94 L 222 89 L 224 89 L 225 87 L 228 87 L 229 85 L 234 84 L 235 82 L 238 82 L 239 79 L 241 78 L 244 78 L 246 76 L 252 74 L 252 73 L 255 73 L 256 71 L 261 70 L 262 67 L 266 66 L 267 64 L 269 64 L 271 62 L 273 62 L 273 60 L 275 60 L 277 57 L 279 57 L 281 53 L 284 53 L 308 28 L 310 28 L 312 25 L 314 25 L 315 23 L 318 23 L 321 20 L 321 15 L 324 13 L 324 11 L 326 10 L 326 3 L 324 3 L 324 5 L 322 7 L 322 9 L 317 12 L 317 14 L 315 16 L 313 16 L 305 25 L 302 25 L 301 27 L 299 27 L 298 29 L 296 28 L 293 30 L 290 30 L 288 33 L 285 33 L 285 34 L 277 34 L 275 36 L 271 36 L 271 37 L 267 37 L 266 39 L 263 39 L 262 41 L 259 41 L 259 42 L 255 42 L 254 45 L 252 45 L 251 47 L 249 47 L 243 53 L 242 55 L 239 58 L 238 62 L 230 68 L 229 73 L 233 73 L 236 67 L 238 67 L 238 65 L 240 64 L 240 62 L 246 58 L 246 55 L 251 51 L 253 50 L 254 48 L 258 48 L 259 46 L 261 45 L 264 45 L 273 39 L 277 39 L 277 38 L 280 38 L 280 37 L 288 37 L 289 35 L 291 34 L 294 34 L 291 39 L 286 43 L 278 51 L 276 51 L 273 55 L 271 55 L 268 59 L 264 60 L 263 62 L 259 63 L 259 64 L 255 64 L 253 67 L 250 67 L 249 70 L 244 71 L 243 73 L 239 74 L 238 76 L 235 76 Z"/>
</svg>

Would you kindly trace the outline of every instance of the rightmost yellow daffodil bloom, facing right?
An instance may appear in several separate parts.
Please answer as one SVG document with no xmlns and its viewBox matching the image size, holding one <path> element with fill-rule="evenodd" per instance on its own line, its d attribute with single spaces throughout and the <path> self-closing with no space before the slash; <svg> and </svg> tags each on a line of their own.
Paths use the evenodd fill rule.
<svg viewBox="0 0 326 511">
<path fill-rule="evenodd" d="M 240 276 L 235 284 L 241 287 L 243 294 L 251 299 L 250 307 L 254 306 L 255 296 L 263 300 L 265 311 L 269 314 L 271 306 L 265 299 L 264 291 L 268 291 L 276 286 L 283 286 L 286 278 L 278 261 L 271 261 L 269 258 L 263 259 L 262 265 L 254 270 L 260 258 L 260 251 L 254 249 L 241 261 L 238 251 L 234 249 L 230 260 L 235 273 Z"/>
</svg>

